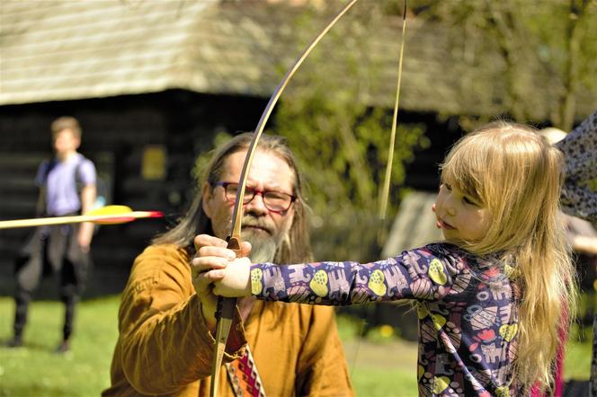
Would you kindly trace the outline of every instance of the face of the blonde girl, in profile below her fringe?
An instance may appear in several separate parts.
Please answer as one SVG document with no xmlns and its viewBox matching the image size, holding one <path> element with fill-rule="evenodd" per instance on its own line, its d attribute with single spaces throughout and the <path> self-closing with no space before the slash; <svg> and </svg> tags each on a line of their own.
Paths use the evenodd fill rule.
<svg viewBox="0 0 597 397">
<path fill-rule="evenodd" d="M 435 224 L 450 243 L 477 242 L 489 229 L 490 216 L 477 200 L 450 183 L 442 183 L 435 204 Z"/>
</svg>

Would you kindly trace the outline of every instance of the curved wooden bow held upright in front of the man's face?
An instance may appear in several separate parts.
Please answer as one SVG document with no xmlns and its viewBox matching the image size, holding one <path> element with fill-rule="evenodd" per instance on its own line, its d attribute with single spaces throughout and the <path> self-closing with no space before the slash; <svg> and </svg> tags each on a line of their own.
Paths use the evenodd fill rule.
<svg viewBox="0 0 597 397">
<path fill-rule="evenodd" d="M 292 76 L 298 70 L 298 67 L 305 61 L 310 52 L 316 47 L 317 43 L 325 36 L 325 34 L 330 29 L 332 29 L 335 22 L 342 18 L 343 14 L 346 13 L 357 1 L 358 0 L 351 0 L 348 4 L 344 5 L 343 9 L 334 16 L 334 19 L 332 19 L 332 21 L 325 26 L 324 30 L 321 31 L 319 35 L 317 35 L 315 40 L 313 40 L 311 44 L 307 46 L 307 49 L 303 51 L 300 57 L 298 57 L 298 59 L 295 61 L 294 65 L 290 67 L 288 72 L 286 72 L 286 75 L 284 75 L 280 84 L 278 84 L 278 87 L 276 87 L 276 90 L 273 92 L 270 101 L 265 106 L 265 110 L 263 110 L 262 117 L 254 130 L 251 144 L 247 149 L 245 163 L 243 164 L 243 170 L 238 181 L 238 190 L 236 192 L 235 207 L 232 216 L 232 232 L 228 240 L 228 248 L 236 251 L 237 254 L 240 252 L 240 243 L 242 242 L 240 233 L 241 219 L 243 213 L 243 200 L 245 199 L 246 180 L 248 177 L 249 170 L 251 169 L 253 156 L 257 148 L 257 144 L 259 143 L 259 138 L 263 133 L 265 123 L 270 118 L 273 107 L 275 106 L 276 102 L 280 99 L 281 93 L 286 88 L 286 85 L 289 84 L 290 78 L 292 78 Z M 224 350 L 226 349 L 226 342 L 228 339 L 230 326 L 232 324 L 232 317 L 234 315 L 235 308 L 236 298 L 218 298 L 218 310 L 216 312 L 216 344 L 214 346 L 213 358 L 211 362 L 211 387 L 209 390 L 209 395 L 211 397 L 215 397 L 218 395 L 219 371 L 220 367 L 222 366 L 222 357 L 224 356 Z"/>
</svg>

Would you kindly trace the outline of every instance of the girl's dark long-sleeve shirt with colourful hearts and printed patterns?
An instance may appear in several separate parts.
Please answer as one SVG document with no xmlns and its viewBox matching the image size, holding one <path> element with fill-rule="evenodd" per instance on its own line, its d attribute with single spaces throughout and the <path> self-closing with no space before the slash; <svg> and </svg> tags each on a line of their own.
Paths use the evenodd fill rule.
<svg viewBox="0 0 597 397">
<path fill-rule="evenodd" d="M 498 260 L 448 243 L 388 260 L 251 269 L 254 296 L 308 304 L 412 299 L 419 317 L 419 394 L 514 395 L 518 293 Z"/>
</svg>

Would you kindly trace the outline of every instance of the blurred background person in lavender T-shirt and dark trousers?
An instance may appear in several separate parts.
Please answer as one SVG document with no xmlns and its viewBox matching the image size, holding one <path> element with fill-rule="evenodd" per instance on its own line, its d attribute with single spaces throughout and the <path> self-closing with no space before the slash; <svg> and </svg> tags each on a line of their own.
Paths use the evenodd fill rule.
<svg viewBox="0 0 597 397">
<path fill-rule="evenodd" d="M 69 216 L 85 213 L 95 202 L 94 163 L 77 153 L 81 127 L 72 117 L 51 124 L 55 157 L 40 164 L 36 184 L 40 187 L 38 216 Z M 75 306 L 83 292 L 90 262 L 89 247 L 94 225 L 55 225 L 36 229 L 16 263 L 14 337 L 12 348 L 22 346 L 27 309 L 45 269 L 60 275 L 60 298 L 66 305 L 62 341 L 58 352 L 69 349 Z"/>
</svg>

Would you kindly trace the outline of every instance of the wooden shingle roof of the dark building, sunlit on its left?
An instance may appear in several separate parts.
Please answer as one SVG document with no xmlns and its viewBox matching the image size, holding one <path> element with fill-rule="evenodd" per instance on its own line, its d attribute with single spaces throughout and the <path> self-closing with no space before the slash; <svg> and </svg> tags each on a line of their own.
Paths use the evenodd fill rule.
<svg viewBox="0 0 597 397">
<path fill-rule="evenodd" d="M 281 79 L 281 70 L 298 56 L 301 46 L 293 29 L 308 30 L 307 36 L 315 37 L 329 19 L 323 15 L 321 23 L 298 28 L 291 22 L 299 7 L 289 4 L 3 0 L 0 105 L 176 88 L 269 97 Z M 366 8 L 367 2 L 359 6 Z M 348 15 L 339 24 L 347 29 L 354 21 L 351 18 Z M 390 18 L 369 33 L 367 53 L 360 54 L 363 66 L 377 62 L 381 72 L 366 82 L 370 87 L 366 100 L 391 105 L 400 18 Z M 499 69 L 503 66 L 501 58 L 483 57 L 470 66 L 462 60 L 465 55 L 450 50 L 449 36 L 432 22 L 416 18 L 409 22 L 402 107 L 445 114 L 491 115 L 503 111 L 500 79 L 479 82 L 475 73 L 476 69 Z M 343 50 L 354 49 L 347 46 Z M 330 57 L 330 61 L 342 63 L 338 56 Z M 478 84 L 486 86 L 479 88 Z M 553 95 L 538 93 L 536 97 Z M 535 107 L 536 119 L 547 118 L 547 101 Z M 581 115 L 594 106 L 590 100 L 578 101 L 578 105 L 587 108 L 579 110 Z"/>
</svg>

